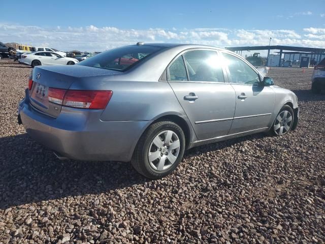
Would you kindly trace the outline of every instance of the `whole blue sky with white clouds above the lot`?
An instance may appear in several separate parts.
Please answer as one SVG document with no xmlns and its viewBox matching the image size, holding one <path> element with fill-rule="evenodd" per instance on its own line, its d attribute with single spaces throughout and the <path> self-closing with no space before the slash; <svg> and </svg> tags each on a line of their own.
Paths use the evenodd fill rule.
<svg viewBox="0 0 325 244">
<path fill-rule="evenodd" d="M 1 8 L 20 14 L 2 11 L 0 41 L 62 50 L 136 41 L 266 45 L 269 37 L 274 45 L 325 47 L 325 0 L 6 1 Z"/>
</svg>

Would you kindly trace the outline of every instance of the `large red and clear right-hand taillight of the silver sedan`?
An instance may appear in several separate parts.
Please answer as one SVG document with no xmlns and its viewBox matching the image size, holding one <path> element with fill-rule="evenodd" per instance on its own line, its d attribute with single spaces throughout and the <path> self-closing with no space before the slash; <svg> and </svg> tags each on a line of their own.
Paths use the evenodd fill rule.
<svg viewBox="0 0 325 244">
<path fill-rule="evenodd" d="M 112 97 L 111 90 L 65 90 L 49 88 L 52 103 L 74 108 L 104 109 Z"/>
</svg>

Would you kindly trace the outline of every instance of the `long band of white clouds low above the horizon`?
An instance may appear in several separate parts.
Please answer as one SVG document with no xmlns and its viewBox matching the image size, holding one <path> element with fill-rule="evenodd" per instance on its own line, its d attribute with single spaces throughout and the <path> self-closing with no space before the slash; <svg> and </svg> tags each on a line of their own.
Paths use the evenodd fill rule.
<svg viewBox="0 0 325 244">
<path fill-rule="evenodd" d="M 55 26 L 45 28 L 0 23 L 0 41 L 49 46 L 70 51 L 103 51 L 117 46 L 144 42 L 195 43 L 212 46 L 293 45 L 325 47 L 325 28 L 225 29 L 225 28 L 149 28 L 120 29 L 114 26 Z M 304 38 L 302 38 L 302 36 Z"/>
</svg>

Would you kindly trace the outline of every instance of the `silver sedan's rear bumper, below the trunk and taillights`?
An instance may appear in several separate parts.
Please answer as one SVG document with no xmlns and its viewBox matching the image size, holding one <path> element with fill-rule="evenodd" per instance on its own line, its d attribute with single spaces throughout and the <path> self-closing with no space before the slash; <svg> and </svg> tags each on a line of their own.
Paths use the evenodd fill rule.
<svg viewBox="0 0 325 244">
<path fill-rule="evenodd" d="M 19 117 L 26 132 L 59 155 L 87 161 L 131 160 L 134 148 L 151 121 L 101 121 L 92 110 L 89 114 L 62 109 L 57 118 L 37 112 L 23 100 Z M 80 110 L 80 109 L 79 109 Z M 73 115 L 73 116 L 72 116 Z"/>
</svg>

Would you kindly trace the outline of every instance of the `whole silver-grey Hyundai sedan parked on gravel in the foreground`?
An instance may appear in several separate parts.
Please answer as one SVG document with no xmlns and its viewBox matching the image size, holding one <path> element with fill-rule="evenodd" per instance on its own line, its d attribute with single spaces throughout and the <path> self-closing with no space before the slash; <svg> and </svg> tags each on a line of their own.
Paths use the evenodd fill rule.
<svg viewBox="0 0 325 244">
<path fill-rule="evenodd" d="M 131 161 L 170 174 L 184 150 L 298 125 L 298 101 L 245 59 L 202 45 L 112 49 L 74 66 L 38 66 L 18 121 L 60 159 Z"/>
</svg>

